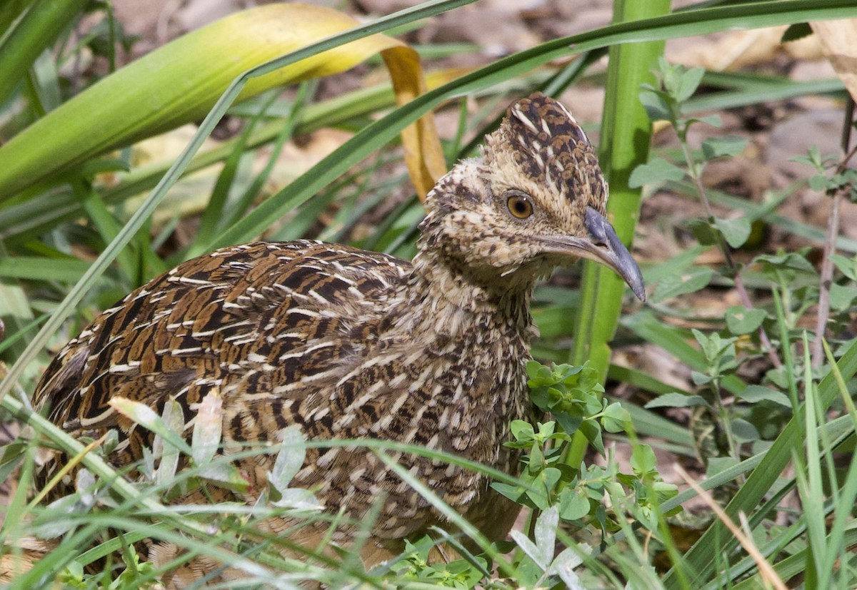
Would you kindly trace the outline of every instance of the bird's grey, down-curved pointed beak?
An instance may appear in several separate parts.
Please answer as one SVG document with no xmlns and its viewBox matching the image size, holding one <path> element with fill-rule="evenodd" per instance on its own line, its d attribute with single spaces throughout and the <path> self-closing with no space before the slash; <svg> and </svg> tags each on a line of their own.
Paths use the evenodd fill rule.
<svg viewBox="0 0 857 590">
<path fill-rule="evenodd" d="M 572 254 L 612 268 L 616 274 L 625 279 L 634 295 L 637 295 L 640 301 L 645 301 L 643 275 L 631 253 L 619 240 L 613 226 L 601 213 L 592 207 L 586 207 L 584 227 L 589 232 L 589 237 L 551 235 L 542 240 L 554 246 L 549 248 L 548 252 Z"/>
</svg>

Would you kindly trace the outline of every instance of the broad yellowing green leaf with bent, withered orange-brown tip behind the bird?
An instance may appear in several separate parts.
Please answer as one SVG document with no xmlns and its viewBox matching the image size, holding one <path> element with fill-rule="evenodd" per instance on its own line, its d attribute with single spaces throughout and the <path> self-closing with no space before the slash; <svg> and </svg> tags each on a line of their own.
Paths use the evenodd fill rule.
<svg viewBox="0 0 857 590">
<path fill-rule="evenodd" d="M 111 149 L 198 120 L 239 74 L 357 24 L 321 6 L 273 3 L 175 39 L 99 80 L 0 146 L 0 201 Z M 375 34 L 252 78 L 238 100 L 350 69 L 379 52 L 400 104 L 424 92 L 417 53 Z M 403 132 L 403 143 L 414 183 L 427 191 L 445 170 L 433 122 L 423 119 Z"/>
</svg>

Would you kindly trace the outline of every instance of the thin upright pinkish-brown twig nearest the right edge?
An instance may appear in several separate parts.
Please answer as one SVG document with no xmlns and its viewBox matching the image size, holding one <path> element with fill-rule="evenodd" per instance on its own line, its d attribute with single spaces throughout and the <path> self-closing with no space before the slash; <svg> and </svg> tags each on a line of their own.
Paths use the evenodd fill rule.
<svg viewBox="0 0 857 590">
<path fill-rule="evenodd" d="M 842 162 L 836 166 L 836 174 L 845 171 L 848 162 L 857 152 L 857 146 L 848 152 L 851 144 L 851 129 L 854 121 L 854 98 L 848 97 L 845 107 L 845 124 L 842 128 L 842 153 L 847 153 Z M 836 236 L 839 235 L 839 206 L 842 203 L 844 187 L 829 188 L 827 196 L 833 199 L 830 206 L 830 216 L 827 218 L 827 234 L 824 236 L 824 255 L 821 259 L 821 277 L 818 283 L 818 315 L 815 325 L 815 339 L 812 341 L 812 367 L 821 367 L 824 361 L 824 351 L 821 342 L 824 339 L 824 330 L 827 320 L 830 319 L 830 284 L 833 282 L 833 259 L 831 256 L 836 252 Z"/>
</svg>

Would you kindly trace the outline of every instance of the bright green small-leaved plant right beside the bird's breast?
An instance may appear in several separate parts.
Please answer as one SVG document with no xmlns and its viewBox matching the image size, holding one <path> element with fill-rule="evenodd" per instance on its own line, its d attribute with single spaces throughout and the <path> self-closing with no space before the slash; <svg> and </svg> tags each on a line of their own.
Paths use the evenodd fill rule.
<svg viewBox="0 0 857 590">
<path fill-rule="evenodd" d="M 523 485 L 494 483 L 495 490 L 530 509 L 553 509 L 561 521 L 576 527 L 594 527 L 603 535 L 618 530 L 617 519 L 626 517 L 605 505 L 608 495 L 630 496 L 651 510 L 674 497 L 677 490 L 657 474 L 648 445 L 633 445 L 630 474 L 621 473 L 605 453 L 603 432 L 625 432 L 631 420 L 619 402 L 608 402 L 599 395 L 603 387 L 593 367 L 545 367 L 530 361 L 527 372 L 530 398 L 536 408 L 554 420 L 535 427 L 521 420 L 512 422 L 513 440 L 506 446 L 524 453 L 520 475 Z M 575 432 L 583 432 L 592 448 L 608 457 L 606 465 L 584 463 L 574 467 L 564 461 Z"/>
</svg>

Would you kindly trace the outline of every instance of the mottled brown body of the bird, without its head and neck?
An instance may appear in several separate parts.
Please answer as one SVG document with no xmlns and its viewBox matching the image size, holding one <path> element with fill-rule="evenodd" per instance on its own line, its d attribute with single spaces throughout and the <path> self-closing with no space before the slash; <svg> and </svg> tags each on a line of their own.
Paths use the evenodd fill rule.
<svg viewBox="0 0 857 590">
<path fill-rule="evenodd" d="M 419 268 L 431 277 L 405 260 L 317 241 L 224 248 L 106 310 L 57 355 L 40 393 L 54 401 L 51 420 L 75 437 L 121 429 L 117 466 L 139 460 L 154 435 L 117 412 L 113 397 L 158 412 L 174 399 L 191 429 L 203 398 L 216 392 L 227 451 L 278 443 L 283 428 L 297 425 L 309 440 L 396 440 L 513 471 L 502 443 L 509 420 L 528 411 L 529 314 L 520 301 L 490 305 L 473 285 L 449 285 L 431 307 L 416 305 L 440 280 L 433 265 Z M 510 354 L 512 363 L 496 366 Z M 475 405 L 486 413 L 472 412 Z M 333 511 L 348 506 L 357 520 L 387 498 L 379 538 L 403 539 L 431 520 L 428 502 L 371 451 L 308 453 L 292 486 L 314 490 Z M 464 468 L 398 459 L 453 507 L 494 495 Z M 253 456 L 241 468 L 251 489 L 263 489 L 273 457 Z"/>
</svg>

